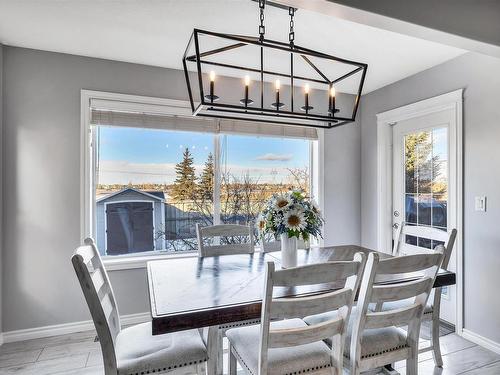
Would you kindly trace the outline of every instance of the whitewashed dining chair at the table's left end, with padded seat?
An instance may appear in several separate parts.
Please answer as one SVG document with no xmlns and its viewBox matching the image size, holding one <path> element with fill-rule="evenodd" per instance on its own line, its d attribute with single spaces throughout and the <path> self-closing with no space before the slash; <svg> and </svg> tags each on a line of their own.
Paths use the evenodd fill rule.
<svg viewBox="0 0 500 375">
<path fill-rule="evenodd" d="M 198 330 L 152 335 L 151 322 L 121 328 L 113 288 L 94 241 L 71 262 L 101 344 L 105 375 L 204 372 L 207 350 Z"/>
</svg>

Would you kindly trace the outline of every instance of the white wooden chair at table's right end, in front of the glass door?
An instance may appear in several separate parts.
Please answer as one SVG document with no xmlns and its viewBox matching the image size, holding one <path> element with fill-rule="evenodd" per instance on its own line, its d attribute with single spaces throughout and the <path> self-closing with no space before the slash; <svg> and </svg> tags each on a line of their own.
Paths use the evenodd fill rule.
<svg viewBox="0 0 500 375">
<path fill-rule="evenodd" d="M 406 236 L 412 236 L 417 238 L 417 244 L 413 241 L 413 244 L 408 244 Z M 433 227 L 427 226 L 415 226 L 408 225 L 402 222 L 399 226 L 397 233 L 397 241 L 394 242 L 393 255 L 407 255 L 414 253 L 430 253 L 433 252 L 436 245 L 443 245 L 444 256 L 441 268 L 448 269 L 450 263 L 451 254 L 453 252 L 453 246 L 455 245 L 455 240 L 457 237 L 457 230 L 452 229 L 450 231 L 444 231 Z M 419 241 L 424 240 L 426 242 L 431 242 L 431 249 L 424 248 L 419 245 Z M 377 306 L 377 311 L 383 311 L 385 308 L 393 309 L 396 307 L 403 307 L 407 305 L 410 301 L 397 301 L 392 303 L 384 304 L 383 306 Z M 423 320 L 429 321 L 431 324 L 431 344 L 420 349 L 420 353 L 432 351 L 434 357 L 434 363 L 438 367 L 443 366 L 443 359 L 441 356 L 441 344 L 439 341 L 439 325 L 440 325 L 440 307 L 441 307 L 441 288 L 433 289 L 427 305 L 425 306 Z"/>
</svg>

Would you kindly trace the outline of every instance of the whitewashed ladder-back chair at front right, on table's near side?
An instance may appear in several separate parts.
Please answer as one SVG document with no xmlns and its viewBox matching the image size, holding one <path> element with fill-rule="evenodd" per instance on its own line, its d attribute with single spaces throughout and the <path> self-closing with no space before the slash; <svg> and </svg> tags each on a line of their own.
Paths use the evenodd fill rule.
<svg viewBox="0 0 500 375">
<path fill-rule="evenodd" d="M 346 338 L 346 363 L 351 374 L 406 360 L 406 374 L 418 374 L 418 343 L 424 308 L 443 258 L 444 247 L 432 254 L 379 260 L 370 253 L 360 286 L 357 307 Z M 408 281 L 389 283 L 391 277 L 411 273 Z M 375 284 L 377 280 L 377 284 Z M 401 308 L 371 311 L 370 304 L 412 299 Z M 407 331 L 399 328 L 408 326 Z"/>
</svg>

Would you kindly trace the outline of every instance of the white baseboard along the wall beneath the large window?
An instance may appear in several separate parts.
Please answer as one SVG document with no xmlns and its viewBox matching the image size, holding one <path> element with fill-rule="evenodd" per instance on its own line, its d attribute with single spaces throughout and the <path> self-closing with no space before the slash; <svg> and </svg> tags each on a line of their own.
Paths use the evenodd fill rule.
<svg viewBox="0 0 500 375">
<path fill-rule="evenodd" d="M 122 315 L 120 317 L 122 325 L 131 325 L 144 323 L 151 320 L 149 312 Z M 92 320 L 85 320 L 81 322 L 55 324 L 45 327 L 20 329 L 16 331 L 3 332 L 1 335 L 0 343 L 40 339 L 44 337 L 52 337 L 58 335 L 66 335 L 68 333 L 84 332 L 94 330 L 94 323 Z M 0 344 L 1 345 L 1 344 Z"/>
</svg>

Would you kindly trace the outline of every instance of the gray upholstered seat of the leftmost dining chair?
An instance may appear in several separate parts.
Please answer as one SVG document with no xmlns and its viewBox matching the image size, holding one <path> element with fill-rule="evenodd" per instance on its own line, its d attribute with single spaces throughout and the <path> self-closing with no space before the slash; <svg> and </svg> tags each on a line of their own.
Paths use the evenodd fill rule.
<svg viewBox="0 0 500 375">
<path fill-rule="evenodd" d="M 118 374 L 150 374 L 203 363 L 207 350 L 198 330 L 153 336 L 143 323 L 120 331 L 116 357 Z"/>
</svg>

